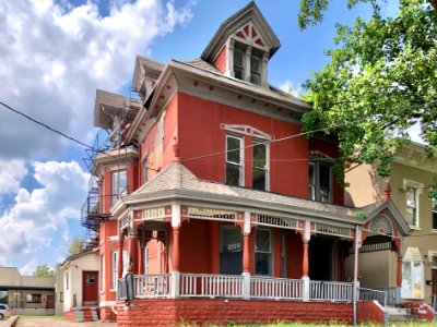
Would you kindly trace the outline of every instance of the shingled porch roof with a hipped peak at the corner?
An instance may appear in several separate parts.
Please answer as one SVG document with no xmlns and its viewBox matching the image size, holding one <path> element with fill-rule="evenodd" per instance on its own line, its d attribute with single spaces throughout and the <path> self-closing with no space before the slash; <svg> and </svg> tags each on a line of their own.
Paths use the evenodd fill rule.
<svg viewBox="0 0 437 327">
<path fill-rule="evenodd" d="M 344 222 L 364 225 L 366 219 L 362 218 L 362 213 L 366 208 L 350 208 L 333 204 L 320 203 L 272 192 L 249 190 L 239 186 L 231 186 L 218 182 L 206 181 L 197 178 L 181 162 L 174 161 L 163 171 L 157 173 L 151 181 L 142 185 L 132 194 L 122 197 L 121 202 L 115 205 L 118 211 L 126 205 L 138 204 L 139 202 L 156 201 L 153 196 L 165 191 L 179 191 L 178 195 L 192 194 L 201 199 L 213 201 L 220 198 L 241 206 L 268 206 L 272 209 L 286 209 L 290 214 L 306 217 L 328 218 Z M 366 215 L 366 218 L 369 218 Z"/>
</svg>

